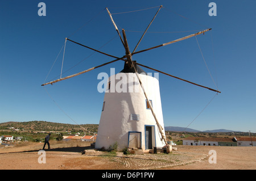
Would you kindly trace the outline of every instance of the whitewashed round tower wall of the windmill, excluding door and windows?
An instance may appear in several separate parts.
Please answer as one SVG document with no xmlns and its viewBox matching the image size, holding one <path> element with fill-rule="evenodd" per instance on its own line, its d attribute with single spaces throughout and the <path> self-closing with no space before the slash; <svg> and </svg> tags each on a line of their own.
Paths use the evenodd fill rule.
<svg viewBox="0 0 256 181">
<path fill-rule="evenodd" d="M 116 76 L 119 79 L 114 79 Z M 122 76 L 128 76 L 128 81 L 126 82 L 125 79 L 122 79 Z M 158 79 L 143 74 L 139 74 L 139 77 L 148 99 L 152 100 L 155 115 L 158 117 L 160 125 L 164 128 Z M 156 141 L 153 141 L 153 146 L 164 146 L 164 141 L 160 140 L 160 133 L 151 110 L 146 108 L 146 98 L 135 74 L 118 73 L 112 75 L 109 81 L 111 92 L 106 92 L 104 96 L 103 102 L 105 102 L 105 106 L 104 111 L 101 112 L 96 148 L 104 147 L 108 149 L 110 145 L 117 141 L 119 150 L 122 150 L 128 146 L 129 132 L 141 132 L 141 146 L 145 150 L 145 125 L 155 126 L 153 134 Z M 113 92 L 113 87 L 118 88 L 122 83 L 126 85 L 127 91 L 133 85 L 139 92 Z M 131 114 L 139 115 L 139 120 L 131 120 Z"/>
</svg>

